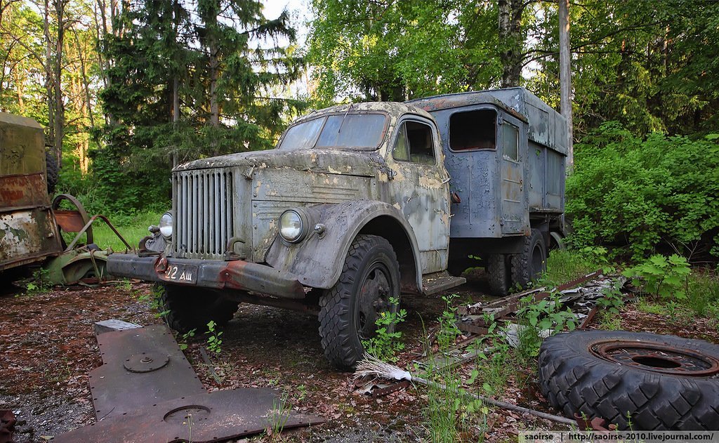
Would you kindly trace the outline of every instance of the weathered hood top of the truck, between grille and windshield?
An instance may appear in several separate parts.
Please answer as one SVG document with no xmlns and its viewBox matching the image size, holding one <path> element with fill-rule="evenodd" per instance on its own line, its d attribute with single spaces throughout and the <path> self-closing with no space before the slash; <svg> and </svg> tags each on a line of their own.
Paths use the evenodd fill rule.
<svg viewBox="0 0 719 443">
<path fill-rule="evenodd" d="M 377 171 L 388 171 L 387 163 L 376 151 L 351 150 L 266 150 L 239 152 L 220 157 L 203 158 L 183 165 L 174 170 L 193 170 L 206 168 L 291 168 L 311 170 L 317 173 L 359 175 L 374 177 Z"/>
</svg>

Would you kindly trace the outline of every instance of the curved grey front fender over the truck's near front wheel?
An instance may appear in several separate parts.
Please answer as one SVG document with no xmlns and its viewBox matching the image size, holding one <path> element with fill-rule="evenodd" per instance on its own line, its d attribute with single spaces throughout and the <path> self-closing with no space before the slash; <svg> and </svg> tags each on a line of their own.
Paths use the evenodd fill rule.
<svg viewBox="0 0 719 443">
<path fill-rule="evenodd" d="M 349 245 L 362 227 L 377 217 L 390 216 L 407 235 L 416 270 L 416 285 L 417 288 L 422 287 L 417 239 L 399 209 L 383 201 L 374 200 L 319 204 L 307 206 L 305 209 L 308 212 L 310 229 L 306 239 L 293 245 L 278 235 L 266 257 L 267 263 L 273 268 L 297 275 L 303 286 L 329 289 L 339 279 Z M 321 235 L 313 231 L 313 227 L 318 223 L 326 227 Z M 395 252 L 400 256 L 400 251 Z"/>
</svg>

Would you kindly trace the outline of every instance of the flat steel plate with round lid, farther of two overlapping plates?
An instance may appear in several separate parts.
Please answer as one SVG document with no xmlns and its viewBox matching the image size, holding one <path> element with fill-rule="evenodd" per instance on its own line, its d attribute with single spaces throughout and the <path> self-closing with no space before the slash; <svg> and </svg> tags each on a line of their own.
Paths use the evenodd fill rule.
<svg viewBox="0 0 719 443">
<path fill-rule="evenodd" d="M 206 393 L 164 324 L 106 332 L 97 341 L 103 365 L 90 372 L 90 391 L 98 419 Z"/>
</svg>

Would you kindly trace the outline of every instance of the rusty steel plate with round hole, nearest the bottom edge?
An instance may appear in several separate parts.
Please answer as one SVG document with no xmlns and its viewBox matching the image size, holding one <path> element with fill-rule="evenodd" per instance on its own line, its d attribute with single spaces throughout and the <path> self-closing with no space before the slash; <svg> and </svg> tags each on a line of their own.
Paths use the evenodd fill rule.
<svg viewBox="0 0 719 443">
<path fill-rule="evenodd" d="M 75 429 L 55 437 L 53 442 L 218 442 L 257 434 L 278 419 L 286 420 L 284 429 L 324 422 L 319 416 L 295 414 L 287 409 L 280 419 L 278 404 L 277 393 L 269 388 L 185 396 Z"/>
</svg>

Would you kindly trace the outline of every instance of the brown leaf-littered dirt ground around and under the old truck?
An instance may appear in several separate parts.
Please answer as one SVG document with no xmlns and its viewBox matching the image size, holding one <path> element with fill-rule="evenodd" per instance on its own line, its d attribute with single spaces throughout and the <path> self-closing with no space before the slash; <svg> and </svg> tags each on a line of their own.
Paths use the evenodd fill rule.
<svg viewBox="0 0 719 443">
<path fill-rule="evenodd" d="M 480 277 L 453 291 L 459 301 L 485 299 Z M 88 372 L 101 365 L 93 324 L 121 319 L 147 325 L 161 323 L 150 303 L 139 296 L 151 286 L 135 283 L 100 288 L 75 286 L 25 295 L 17 288 L 0 293 L 0 409 L 11 409 L 18 419 L 17 442 L 42 442 L 95 421 Z M 404 298 L 409 315 L 401 326 L 406 350 L 398 365 L 416 359 L 444 310 L 440 296 Z M 669 324 L 661 316 L 623 312 L 621 326 L 719 342 L 715 324 L 692 319 Z M 219 355 L 212 355 L 219 382 L 203 362 L 200 349 L 206 337 L 195 337 L 185 351 L 209 391 L 228 388 L 271 387 L 288 394 L 296 411 L 318 414 L 326 424 L 284 431 L 284 441 L 411 442 L 426 441 L 421 386 L 372 398 L 354 387 L 351 373 L 334 370 L 322 354 L 318 321 L 308 314 L 243 304 L 224 329 Z M 465 368 L 466 370 L 466 368 Z M 496 398 L 551 414 L 536 385 L 536 368 L 518 367 L 503 393 Z M 492 410 L 487 416 L 488 442 L 516 441 L 522 429 L 566 429 L 533 416 Z M 476 431 L 476 429 L 475 429 Z M 252 440 L 267 439 L 253 437 Z"/>
</svg>

